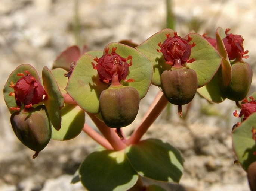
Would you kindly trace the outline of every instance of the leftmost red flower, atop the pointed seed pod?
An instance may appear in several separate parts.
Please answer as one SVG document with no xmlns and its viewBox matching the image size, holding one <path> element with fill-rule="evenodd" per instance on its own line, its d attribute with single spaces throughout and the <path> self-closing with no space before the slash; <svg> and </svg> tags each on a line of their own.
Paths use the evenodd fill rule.
<svg viewBox="0 0 256 191">
<path fill-rule="evenodd" d="M 43 101 L 43 96 L 46 95 L 43 86 L 34 78 L 28 71 L 27 75 L 18 73 L 17 76 L 22 76 L 16 84 L 11 82 L 10 87 L 14 89 L 14 93 L 10 92 L 10 96 L 15 96 L 17 108 L 11 110 L 19 110 L 24 104 L 25 108 L 31 108 L 33 104 L 38 104 Z"/>
</svg>

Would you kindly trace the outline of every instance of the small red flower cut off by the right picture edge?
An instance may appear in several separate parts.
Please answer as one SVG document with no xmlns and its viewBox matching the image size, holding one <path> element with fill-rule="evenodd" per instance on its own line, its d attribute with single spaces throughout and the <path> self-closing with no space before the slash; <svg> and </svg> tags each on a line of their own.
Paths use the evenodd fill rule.
<svg viewBox="0 0 256 191">
<path fill-rule="evenodd" d="M 240 111 L 240 114 L 237 114 L 237 110 L 233 113 L 235 117 L 242 117 L 243 121 L 246 120 L 247 117 L 249 117 L 252 113 L 256 112 L 256 100 L 253 97 L 249 97 L 251 101 L 248 101 L 247 99 L 243 100 L 243 104 L 241 104 L 242 108 Z"/>
</svg>

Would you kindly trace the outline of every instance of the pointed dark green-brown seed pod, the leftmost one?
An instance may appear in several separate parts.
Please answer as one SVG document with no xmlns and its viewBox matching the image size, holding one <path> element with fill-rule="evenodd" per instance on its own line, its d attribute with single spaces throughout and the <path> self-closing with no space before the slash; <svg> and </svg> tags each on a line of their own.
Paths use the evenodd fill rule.
<svg viewBox="0 0 256 191">
<path fill-rule="evenodd" d="M 31 150 L 40 152 L 49 143 L 52 127 L 44 105 L 15 112 L 10 121 L 18 139 Z"/>
</svg>

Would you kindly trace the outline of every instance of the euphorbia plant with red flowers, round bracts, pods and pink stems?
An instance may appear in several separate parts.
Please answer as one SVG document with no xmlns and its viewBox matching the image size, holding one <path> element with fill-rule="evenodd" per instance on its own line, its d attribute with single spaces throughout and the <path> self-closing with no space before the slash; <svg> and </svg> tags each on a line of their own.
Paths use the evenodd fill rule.
<svg viewBox="0 0 256 191">
<path fill-rule="evenodd" d="M 13 130 L 23 144 L 36 151 L 33 158 L 50 139 L 69 140 L 82 130 L 87 133 L 102 149 L 84 159 L 73 183 L 81 181 L 88 190 L 162 191 L 157 185 L 144 186 L 141 177 L 179 182 L 183 158 L 169 143 L 142 140 L 142 136 L 168 101 L 178 105 L 182 117 L 181 106 L 191 102 L 196 92 L 211 102 L 228 98 L 238 106 L 247 95 L 252 70 L 243 58 L 248 51 L 244 51 L 240 35 L 228 32 L 218 28 L 216 39 L 196 33 L 182 38 L 172 29 L 164 29 L 140 45 L 113 42 L 103 51 L 87 52 L 72 46 L 56 58 L 52 70 L 43 68 L 41 79 L 31 65 L 18 66 L 4 86 Z M 236 67 L 244 68 L 243 72 Z M 246 87 L 241 87 L 240 76 L 247 80 Z M 151 84 L 159 87 L 159 93 L 126 137 L 122 128 L 135 120 L 139 102 Z M 234 92 L 228 95 L 230 89 Z M 247 115 L 252 105 L 246 104 L 255 106 L 254 100 L 242 103 L 242 111 L 235 115 L 255 123 Z M 86 124 L 85 113 L 100 133 Z M 242 161 L 239 156 L 238 161 Z"/>
</svg>

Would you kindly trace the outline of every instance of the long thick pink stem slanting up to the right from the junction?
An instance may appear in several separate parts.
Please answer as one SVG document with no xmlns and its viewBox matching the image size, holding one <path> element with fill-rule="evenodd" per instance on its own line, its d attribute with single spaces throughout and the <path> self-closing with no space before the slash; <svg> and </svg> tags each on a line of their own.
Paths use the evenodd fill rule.
<svg viewBox="0 0 256 191">
<path fill-rule="evenodd" d="M 136 144 L 139 142 L 141 137 L 146 133 L 150 125 L 157 119 L 161 114 L 168 101 L 164 96 L 163 92 L 159 92 L 155 97 L 154 101 L 150 105 L 148 111 L 145 113 L 141 120 L 141 124 L 133 131 L 130 138 L 126 141 L 127 145 Z"/>
</svg>

